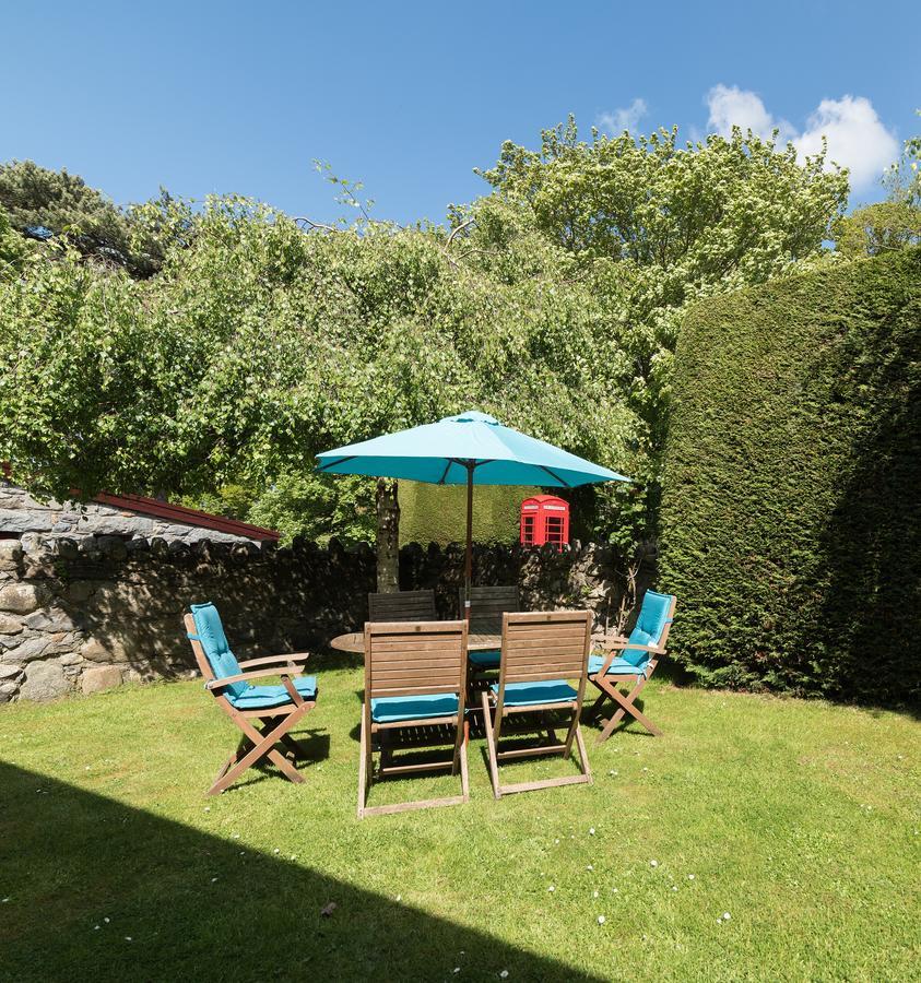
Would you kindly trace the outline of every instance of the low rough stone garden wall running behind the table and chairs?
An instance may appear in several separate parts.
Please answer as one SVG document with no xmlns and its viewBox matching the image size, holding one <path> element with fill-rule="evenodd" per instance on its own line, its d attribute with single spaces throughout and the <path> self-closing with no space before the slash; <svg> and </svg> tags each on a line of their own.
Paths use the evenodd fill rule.
<svg viewBox="0 0 921 983">
<path fill-rule="evenodd" d="M 617 558 L 578 543 L 563 553 L 477 547 L 474 582 L 518 583 L 526 608 L 591 607 L 616 621 Z M 441 617 L 458 614 L 463 549 L 401 552 L 403 590 L 434 588 Z M 123 682 L 194 672 L 182 614 L 213 601 L 238 658 L 291 651 L 330 656 L 327 642 L 358 630 L 376 560 L 344 549 L 274 544 L 167 543 L 96 536 L 0 541 L 0 702 L 93 692 Z"/>
</svg>

